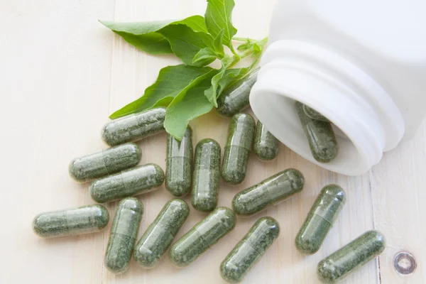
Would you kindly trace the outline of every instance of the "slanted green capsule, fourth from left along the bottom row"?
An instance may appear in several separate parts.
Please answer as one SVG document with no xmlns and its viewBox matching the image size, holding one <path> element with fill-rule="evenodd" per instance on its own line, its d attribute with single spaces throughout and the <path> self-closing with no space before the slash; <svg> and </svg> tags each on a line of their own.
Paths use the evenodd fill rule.
<svg viewBox="0 0 426 284">
<path fill-rule="evenodd" d="M 169 251 L 175 266 L 185 267 L 229 233 L 236 224 L 235 213 L 226 207 L 217 207 L 173 244 Z"/>
</svg>

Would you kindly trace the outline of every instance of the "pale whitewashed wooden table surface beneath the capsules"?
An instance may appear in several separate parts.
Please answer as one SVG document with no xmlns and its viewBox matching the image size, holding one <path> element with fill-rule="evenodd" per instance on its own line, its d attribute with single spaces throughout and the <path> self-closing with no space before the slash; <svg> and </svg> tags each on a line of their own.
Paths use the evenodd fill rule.
<svg viewBox="0 0 426 284">
<path fill-rule="evenodd" d="M 112 111 L 143 94 L 158 70 L 179 61 L 151 56 L 128 45 L 97 19 L 151 21 L 204 14 L 203 0 L 0 1 L 1 96 L 1 273 L 0 283 L 222 283 L 219 264 L 253 223 L 262 216 L 278 220 L 278 241 L 244 283 L 317 283 L 317 263 L 364 231 L 386 235 L 386 251 L 346 279 L 345 283 L 426 283 L 426 147 L 425 130 L 412 141 L 386 153 L 365 175 L 337 175 L 280 146 L 277 160 L 263 163 L 253 156 L 243 185 L 223 182 L 219 204 L 230 206 L 239 190 L 285 168 L 306 178 L 299 195 L 254 217 L 239 219 L 236 229 L 192 266 L 174 268 L 164 257 L 157 268 L 143 270 L 132 260 L 128 272 L 113 275 L 103 265 L 109 229 L 97 234 L 39 239 L 31 231 L 35 214 L 94 203 L 88 184 L 67 173 L 72 158 L 107 148 L 100 129 Z M 273 0 L 237 0 L 234 24 L 239 36 L 263 38 Z M 214 138 L 224 145 L 228 120 L 212 112 L 192 122 L 194 145 Z M 141 163 L 165 168 L 165 134 L 139 143 Z M 302 256 L 295 235 L 324 185 L 346 190 L 346 203 L 320 251 Z M 160 187 L 139 197 L 145 205 L 146 230 L 170 195 Z M 185 197 L 189 201 L 189 197 Z M 114 217 L 117 202 L 107 204 Z M 204 214 L 192 210 L 179 236 Z M 409 251 L 417 258 L 412 275 L 398 275 L 393 257 Z"/>
</svg>

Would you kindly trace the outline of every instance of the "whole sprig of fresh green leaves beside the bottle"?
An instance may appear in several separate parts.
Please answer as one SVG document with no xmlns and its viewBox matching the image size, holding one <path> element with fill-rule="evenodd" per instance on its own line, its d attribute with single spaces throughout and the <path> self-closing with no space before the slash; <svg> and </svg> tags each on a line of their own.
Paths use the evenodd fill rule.
<svg viewBox="0 0 426 284">
<path fill-rule="evenodd" d="M 234 5 L 234 0 L 207 0 L 204 17 L 190 16 L 179 21 L 100 21 L 146 53 L 173 53 L 185 63 L 164 67 L 142 97 L 109 117 L 117 119 L 153 107 L 167 107 L 165 130 L 180 140 L 190 120 L 217 107 L 217 98 L 252 70 L 268 43 L 268 38 L 234 37 L 237 32 L 231 21 Z M 234 41 L 239 42 L 236 48 Z M 224 46 L 231 54 L 225 52 Z M 251 65 L 233 68 L 249 56 L 253 58 Z M 220 60 L 220 69 L 206 66 L 215 60 Z"/>
</svg>

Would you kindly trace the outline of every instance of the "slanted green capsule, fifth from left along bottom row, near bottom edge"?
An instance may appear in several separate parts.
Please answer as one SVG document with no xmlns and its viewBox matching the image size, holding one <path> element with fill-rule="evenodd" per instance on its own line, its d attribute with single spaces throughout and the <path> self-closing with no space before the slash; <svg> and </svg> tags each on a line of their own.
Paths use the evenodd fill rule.
<svg viewBox="0 0 426 284">
<path fill-rule="evenodd" d="M 278 222 L 271 217 L 263 217 L 226 256 L 220 266 L 222 278 L 229 283 L 239 283 L 261 259 L 266 250 L 280 234 Z"/>
</svg>

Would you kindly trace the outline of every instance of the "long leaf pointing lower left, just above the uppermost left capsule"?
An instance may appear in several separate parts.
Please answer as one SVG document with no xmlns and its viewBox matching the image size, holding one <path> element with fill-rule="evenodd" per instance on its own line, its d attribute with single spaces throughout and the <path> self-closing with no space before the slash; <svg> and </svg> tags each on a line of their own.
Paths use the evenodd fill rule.
<svg viewBox="0 0 426 284">
<path fill-rule="evenodd" d="M 146 88 L 142 97 L 115 111 L 109 118 L 117 119 L 153 107 L 167 107 L 175 97 L 185 94 L 205 77 L 211 76 L 209 74 L 212 70 L 214 69 L 210 67 L 197 68 L 187 65 L 164 67 L 160 70 L 157 81 Z"/>
</svg>

